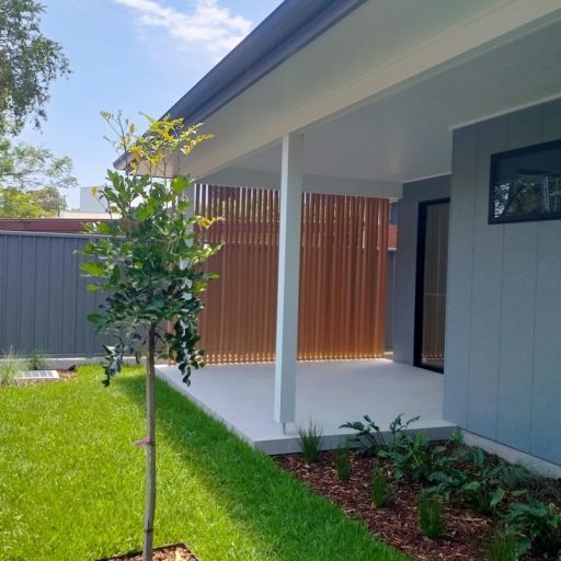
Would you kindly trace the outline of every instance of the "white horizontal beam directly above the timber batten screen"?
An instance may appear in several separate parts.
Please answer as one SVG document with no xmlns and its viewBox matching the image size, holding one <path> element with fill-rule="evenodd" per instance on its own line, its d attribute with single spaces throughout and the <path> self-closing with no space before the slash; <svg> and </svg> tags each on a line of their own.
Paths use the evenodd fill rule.
<svg viewBox="0 0 561 561">
<path fill-rule="evenodd" d="M 197 180 L 209 185 L 231 185 L 239 187 L 278 188 L 278 173 L 229 168 Z M 306 193 L 327 195 L 357 195 L 367 197 L 401 198 L 403 185 L 397 181 L 362 180 L 353 178 L 333 178 L 327 175 L 305 174 L 302 187 Z"/>
</svg>

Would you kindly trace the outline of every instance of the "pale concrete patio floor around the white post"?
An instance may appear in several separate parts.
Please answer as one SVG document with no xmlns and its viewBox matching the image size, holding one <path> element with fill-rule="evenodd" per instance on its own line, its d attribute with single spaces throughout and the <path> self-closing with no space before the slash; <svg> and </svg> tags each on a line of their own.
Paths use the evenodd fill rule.
<svg viewBox="0 0 561 561">
<path fill-rule="evenodd" d="M 399 413 L 421 415 L 412 428 L 433 439 L 454 430 L 443 420 L 443 375 L 385 358 L 299 363 L 296 424 L 288 424 L 286 434 L 273 419 L 274 364 L 206 366 L 193 373 L 188 388 L 174 366 L 157 368 L 168 383 L 266 454 L 299 451 L 297 425 L 310 420 L 321 426 L 324 448 L 348 433 L 339 425 L 364 414 L 382 430 Z"/>
</svg>

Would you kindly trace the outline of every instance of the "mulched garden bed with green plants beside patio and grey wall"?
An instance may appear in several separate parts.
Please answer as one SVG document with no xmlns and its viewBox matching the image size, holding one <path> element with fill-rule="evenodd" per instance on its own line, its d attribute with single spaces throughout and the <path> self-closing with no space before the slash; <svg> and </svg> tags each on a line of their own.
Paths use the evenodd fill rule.
<svg viewBox="0 0 561 561">
<path fill-rule="evenodd" d="M 304 458 L 277 461 L 413 557 L 561 559 L 560 480 L 468 446 L 459 432 L 430 442 L 423 432 L 408 431 L 417 419 L 400 414 L 386 432 L 364 415 L 342 425 L 354 431 L 347 438 L 358 445 L 348 458 L 335 450 L 313 466 Z M 346 463 L 352 479 L 339 474 Z"/>
</svg>

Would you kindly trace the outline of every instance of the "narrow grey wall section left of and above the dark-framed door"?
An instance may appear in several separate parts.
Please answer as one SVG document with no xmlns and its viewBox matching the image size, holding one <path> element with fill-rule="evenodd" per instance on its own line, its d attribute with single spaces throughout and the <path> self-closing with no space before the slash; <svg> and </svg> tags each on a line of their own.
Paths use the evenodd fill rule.
<svg viewBox="0 0 561 561">
<path fill-rule="evenodd" d="M 398 363 L 413 364 L 419 203 L 447 198 L 449 195 L 449 175 L 413 181 L 403 185 L 403 197 L 399 203 L 393 304 L 393 359 Z"/>
</svg>

